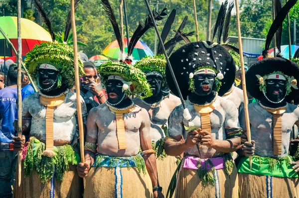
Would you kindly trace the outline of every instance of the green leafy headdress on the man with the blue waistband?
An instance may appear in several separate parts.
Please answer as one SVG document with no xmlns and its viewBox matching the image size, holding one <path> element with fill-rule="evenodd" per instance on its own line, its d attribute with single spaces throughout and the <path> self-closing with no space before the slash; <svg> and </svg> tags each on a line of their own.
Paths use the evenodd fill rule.
<svg viewBox="0 0 299 198">
<path fill-rule="evenodd" d="M 121 76 L 127 82 L 132 82 L 134 90 L 131 90 L 131 92 L 126 90 L 127 95 L 143 95 L 143 98 L 148 98 L 152 95 L 146 75 L 132 65 L 109 61 L 97 67 L 97 69 L 102 76 L 104 84 L 107 83 L 108 77 L 111 75 Z"/>
</svg>

